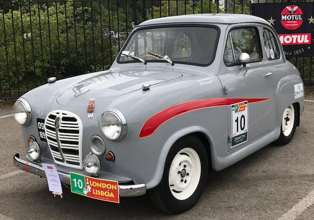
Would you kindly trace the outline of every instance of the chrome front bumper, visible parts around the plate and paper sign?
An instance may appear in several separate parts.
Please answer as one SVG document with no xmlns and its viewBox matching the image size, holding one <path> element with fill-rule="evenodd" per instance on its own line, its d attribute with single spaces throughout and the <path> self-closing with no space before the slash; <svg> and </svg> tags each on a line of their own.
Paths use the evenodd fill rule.
<svg viewBox="0 0 314 220">
<path fill-rule="evenodd" d="M 13 158 L 13 164 L 26 172 L 36 174 L 38 176 L 46 177 L 45 170 L 42 166 L 32 164 L 30 162 L 26 162 L 20 159 L 20 155 L 16 154 Z M 62 183 L 70 186 L 70 175 L 59 172 L 59 178 Z M 120 197 L 132 197 L 144 195 L 146 193 L 146 185 L 145 184 L 137 184 L 137 185 L 119 185 L 119 195 Z"/>
</svg>

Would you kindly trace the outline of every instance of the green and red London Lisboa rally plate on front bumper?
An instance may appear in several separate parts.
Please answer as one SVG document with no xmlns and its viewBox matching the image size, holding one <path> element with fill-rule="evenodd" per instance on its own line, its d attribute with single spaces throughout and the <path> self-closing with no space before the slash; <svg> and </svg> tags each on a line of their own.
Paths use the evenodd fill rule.
<svg viewBox="0 0 314 220">
<path fill-rule="evenodd" d="M 102 180 L 70 172 L 71 192 L 99 200 L 119 203 L 117 181 Z"/>
</svg>

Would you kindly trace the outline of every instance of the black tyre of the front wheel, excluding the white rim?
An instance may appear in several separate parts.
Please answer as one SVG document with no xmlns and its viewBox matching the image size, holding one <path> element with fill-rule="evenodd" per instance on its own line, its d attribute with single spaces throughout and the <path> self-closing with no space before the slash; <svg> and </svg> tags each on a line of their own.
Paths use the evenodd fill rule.
<svg viewBox="0 0 314 220">
<path fill-rule="evenodd" d="M 193 194 L 184 200 L 179 200 L 172 194 L 169 187 L 169 169 L 175 156 L 186 147 L 192 148 L 198 154 L 201 162 L 201 175 Z M 199 200 L 203 192 L 207 182 L 208 169 L 207 151 L 202 141 L 195 136 L 186 136 L 179 139 L 168 153 L 160 183 L 149 191 L 152 202 L 159 210 L 171 214 L 182 213 L 190 209 Z"/>
</svg>

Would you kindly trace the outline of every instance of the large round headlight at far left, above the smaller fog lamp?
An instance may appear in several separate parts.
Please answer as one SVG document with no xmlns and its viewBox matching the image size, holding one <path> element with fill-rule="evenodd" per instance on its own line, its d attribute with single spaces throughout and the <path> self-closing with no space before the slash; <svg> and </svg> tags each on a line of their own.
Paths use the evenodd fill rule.
<svg viewBox="0 0 314 220">
<path fill-rule="evenodd" d="M 20 125 L 28 125 L 31 121 L 30 105 L 24 98 L 19 98 L 13 105 L 12 114 Z"/>
</svg>

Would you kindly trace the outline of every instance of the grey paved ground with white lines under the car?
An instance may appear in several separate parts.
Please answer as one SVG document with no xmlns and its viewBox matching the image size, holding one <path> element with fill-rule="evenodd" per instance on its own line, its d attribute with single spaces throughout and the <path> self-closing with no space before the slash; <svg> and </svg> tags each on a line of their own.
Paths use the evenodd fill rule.
<svg viewBox="0 0 314 220">
<path fill-rule="evenodd" d="M 0 219 L 275 220 L 284 216 L 283 219 L 312 220 L 313 112 L 314 102 L 306 102 L 301 126 L 288 145 L 270 144 L 225 170 L 210 173 L 200 201 L 176 216 L 158 211 L 148 195 L 122 198 L 120 204 L 112 204 L 64 188 L 63 199 L 53 197 L 45 178 L 20 173 L 12 165 L 15 153 L 24 158 L 21 129 L 13 117 L 0 118 Z M 6 114 L 11 114 L 10 110 L 0 108 L 0 116 Z"/>
</svg>

